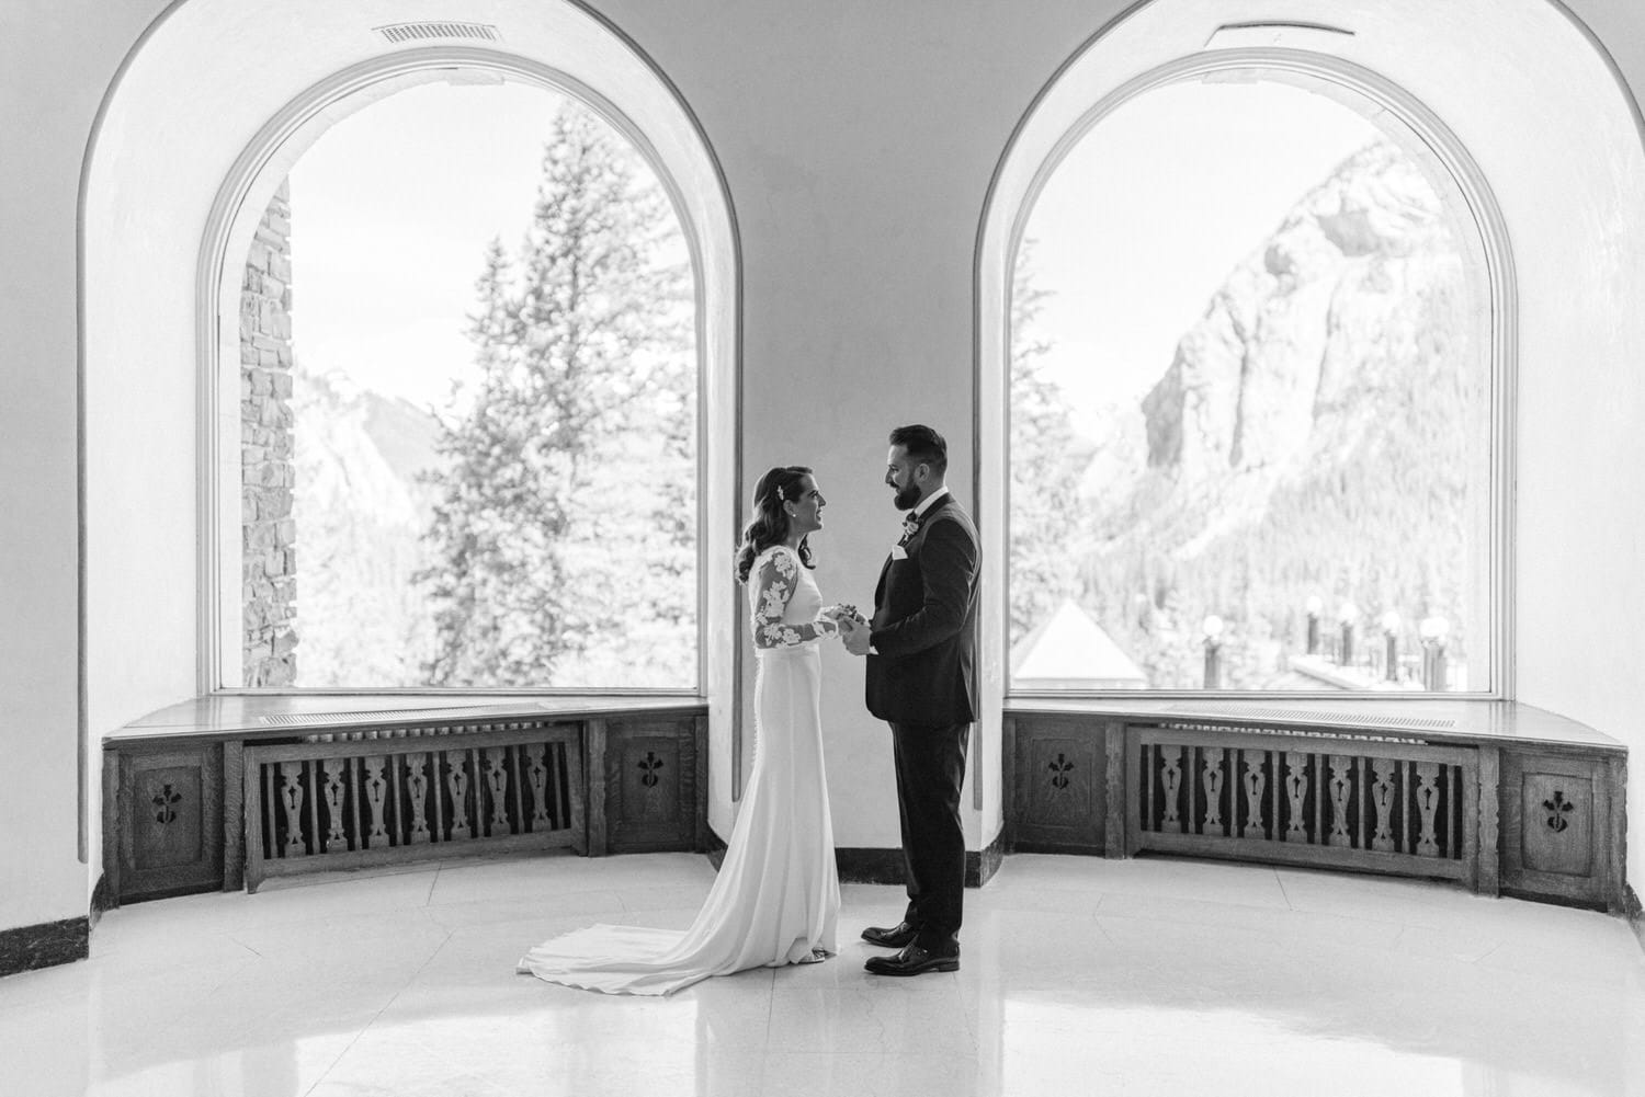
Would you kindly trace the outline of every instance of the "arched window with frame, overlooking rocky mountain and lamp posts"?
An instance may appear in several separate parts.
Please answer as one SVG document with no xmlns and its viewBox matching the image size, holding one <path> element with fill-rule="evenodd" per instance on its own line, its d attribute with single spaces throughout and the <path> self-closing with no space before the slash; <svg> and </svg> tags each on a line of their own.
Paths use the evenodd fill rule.
<svg viewBox="0 0 1645 1097">
<path fill-rule="evenodd" d="M 1007 689 L 1500 689 L 1495 225 L 1346 62 L 1222 51 L 1094 104 L 1007 258 Z"/>
</svg>

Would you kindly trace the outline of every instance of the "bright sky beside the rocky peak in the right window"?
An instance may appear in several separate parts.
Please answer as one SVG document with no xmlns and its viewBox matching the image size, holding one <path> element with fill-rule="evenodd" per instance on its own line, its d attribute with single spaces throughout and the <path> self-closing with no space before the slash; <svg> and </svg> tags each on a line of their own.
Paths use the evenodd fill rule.
<svg viewBox="0 0 1645 1097">
<path fill-rule="evenodd" d="M 1377 137 L 1283 84 L 1175 84 L 1132 99 L 1058 168 L 1028 220 L 1046 372 L 1074 406 L 1132 403 L 1235 265 Z"/>
</svg>

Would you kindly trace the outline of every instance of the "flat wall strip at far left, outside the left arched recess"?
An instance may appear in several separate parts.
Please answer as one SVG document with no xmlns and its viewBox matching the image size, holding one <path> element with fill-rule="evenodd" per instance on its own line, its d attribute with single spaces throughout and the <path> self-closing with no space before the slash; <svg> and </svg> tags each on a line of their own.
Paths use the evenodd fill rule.
<svg viewBox="0 0 1645 1097">
<path fill-rule="evenodd" d="M 0 7 L 0 929 L 87 910 L 76 822 L 76 199 L 104 89 L 158 8 Z M 95 831 L 89 839 L 95 849 Z"/>
</svg>

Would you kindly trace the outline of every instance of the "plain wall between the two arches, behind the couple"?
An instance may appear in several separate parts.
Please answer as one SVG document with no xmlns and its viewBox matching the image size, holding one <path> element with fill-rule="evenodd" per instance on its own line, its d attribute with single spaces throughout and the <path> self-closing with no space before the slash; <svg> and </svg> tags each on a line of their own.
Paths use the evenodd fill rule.
<svg viewBox="0 0 1645 1097">
<path fill-rule="evenodd" d="M 655 48 L 730 179 L 744 242 L 744 484 L 773 464 L 813 465 L 829 500 L 813 538 L 818 586 L 867 607 L 898 526 L 883 485 L 893 426 L 948 437 L 949 484 L 975 511 L 982 201 L 1012 127 L 1102 16 L 1077 3 L 1035 3 L 1031 18 L 1013 3 L 604 8 Z M 836 842 L 897 847 L 890 732 L 864 711 L 862 663 L 837 648 L 824 656 L 822 719 Z M 962 799 L 971 849 L 999 832 L 997 727 L 979 753 L 984 809 L 969 788 Z"/>
</svg>

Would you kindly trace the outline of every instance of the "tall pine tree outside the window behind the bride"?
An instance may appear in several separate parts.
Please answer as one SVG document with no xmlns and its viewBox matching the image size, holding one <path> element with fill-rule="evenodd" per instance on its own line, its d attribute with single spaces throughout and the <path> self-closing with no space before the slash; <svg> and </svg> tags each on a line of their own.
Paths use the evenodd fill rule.
<svg viewBox="0 0 1645 1097">
<path fill-rule="evenodd" d="M 625 636 L 681 600 L 653 564 L 678 521 L 663 511 L 694 488 L 694 451 L 674 444 L 689 283 L 670 252 L 678 220 L 655 179 L 604 122 L 563 107 L 518 260 L 487 252 L 472 403 L 429 477 L 429 683 L 617 684 L 591 676 L 643 658 Z"/>
</svg>

